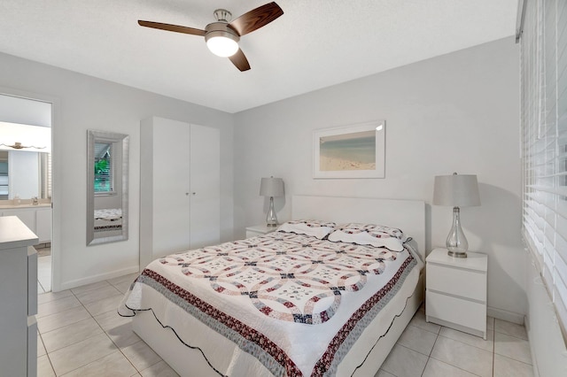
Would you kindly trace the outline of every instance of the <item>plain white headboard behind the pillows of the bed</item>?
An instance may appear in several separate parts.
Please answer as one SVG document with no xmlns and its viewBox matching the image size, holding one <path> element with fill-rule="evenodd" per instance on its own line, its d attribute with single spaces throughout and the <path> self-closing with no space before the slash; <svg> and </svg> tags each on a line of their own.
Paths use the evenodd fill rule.
<svg viewBox="0 0 567 377">
<path fill-rule="evenodd" d="M 292 219 L 363 222 L 399 227 L 425 260 L 425 203 L 421 200 L 338 196 L 292 196 Z"/>
</svg>

